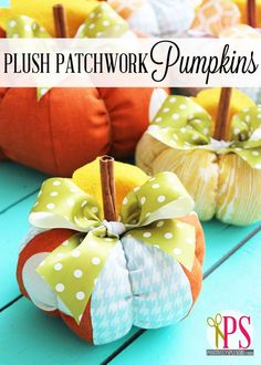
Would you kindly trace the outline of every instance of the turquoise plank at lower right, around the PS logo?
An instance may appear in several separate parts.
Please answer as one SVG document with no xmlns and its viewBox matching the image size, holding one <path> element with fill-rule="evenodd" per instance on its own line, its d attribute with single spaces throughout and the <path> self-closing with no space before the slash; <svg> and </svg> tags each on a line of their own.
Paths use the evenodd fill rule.
<svg viewBox="0 0 261 365">
<path fill-rule="evenodd" d="M 210 274 L 192 313 L 176 326 L 147 331 L 112 365 L 258 365 L 261 364 L 261 232 Z M 206 320 L 222 310 L 251 315 L 254 357 L 206 356 Z"/>
</svg>

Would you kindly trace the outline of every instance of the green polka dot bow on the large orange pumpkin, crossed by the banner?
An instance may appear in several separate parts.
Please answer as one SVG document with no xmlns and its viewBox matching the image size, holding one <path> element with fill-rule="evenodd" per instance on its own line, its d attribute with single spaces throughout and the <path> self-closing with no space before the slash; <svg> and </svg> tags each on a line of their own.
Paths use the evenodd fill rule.
<svg viewBox="0 0 261 365">
<path fill-rule="evenodd" d="M 108 3 L 102 2 L 79 28 L 75 38 L 119 38 L 129 30 L 128 23 L 117 14 Z M 7 21 L 7 38 L 51 38 L 46 30 L 35 20 L 20 15 Z M 39 87 L 38 100 L 41 100 L 51 87 Z"/>
</svg>

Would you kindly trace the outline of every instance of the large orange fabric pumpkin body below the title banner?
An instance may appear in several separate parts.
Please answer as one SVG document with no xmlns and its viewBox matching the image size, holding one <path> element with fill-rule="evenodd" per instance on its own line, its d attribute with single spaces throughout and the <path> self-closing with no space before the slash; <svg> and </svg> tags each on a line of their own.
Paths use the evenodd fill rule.
<svg viewBox="0 0 261 365">
<path fill-rule="evenodd" d="M 152 88 L 0 90 L 0 150 L 41 171 L 70 176 L 104 154 L 132 156 L 148 126 Z"/>
</svg>

